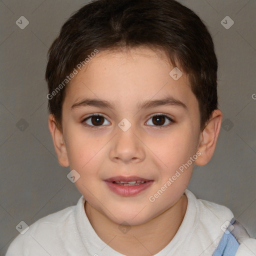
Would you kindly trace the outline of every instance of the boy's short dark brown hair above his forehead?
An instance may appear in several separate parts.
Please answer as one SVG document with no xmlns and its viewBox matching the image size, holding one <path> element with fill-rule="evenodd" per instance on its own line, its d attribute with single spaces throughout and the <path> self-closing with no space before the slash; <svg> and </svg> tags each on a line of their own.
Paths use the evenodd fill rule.
<svg viewBox="0 0 256 256">
<path fill-rule="evenodd" d="M 95 49 L 148 46 L 163 50 L 170 63 L 189 77 L 204 128 L 217 109 L 217 59 L 201 19 L 175 0 L 94 0 L 61 27 L 48 50 L 48 93 Z M 65 86 L 48 97 L 49 112 L 60 129 Z M 52 94 L 53 95 L 53 94 Z"/>
</svg>

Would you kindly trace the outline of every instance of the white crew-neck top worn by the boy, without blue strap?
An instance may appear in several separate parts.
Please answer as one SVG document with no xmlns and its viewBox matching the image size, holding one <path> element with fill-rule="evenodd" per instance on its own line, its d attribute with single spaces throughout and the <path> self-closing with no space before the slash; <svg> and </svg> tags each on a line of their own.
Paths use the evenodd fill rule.
<svg viewBox="0 0 256 256">
<path fill-rule="evenodd" d="M 233 218 L 225 206 L 197 199 L 185 190 L 188 199 L 183 221 L 172 240 L 154 256 L 212 255 L 224 222 Z M 124 256 L 103 242 L 91 226 L 84 197 L 76 205 L 49 214 L 31 224 L 11 242 L 5 256 Z M 236 256 L 255 256 L 256 239 L 248 238 Z"/>
</svg>

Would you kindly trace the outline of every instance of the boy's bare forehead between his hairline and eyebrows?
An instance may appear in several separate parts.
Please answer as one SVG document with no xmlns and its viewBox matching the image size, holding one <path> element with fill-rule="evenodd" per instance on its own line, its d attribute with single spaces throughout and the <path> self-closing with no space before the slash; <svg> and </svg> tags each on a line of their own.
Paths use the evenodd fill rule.
<svg viewBox="0 0 256 256">
<path fill-rule="evenodd" d="M 171 96 L 196 105 L 187 76 L 183 73 L 175 80 L 172 69 L 160 50 L 137 47 L 99 51 L 69 82 L 65 101 L 72 105 L 84 97 L 93 97 L 107 99 L 116 107 L 132 107 L 141 99 Z"/>
</svg>

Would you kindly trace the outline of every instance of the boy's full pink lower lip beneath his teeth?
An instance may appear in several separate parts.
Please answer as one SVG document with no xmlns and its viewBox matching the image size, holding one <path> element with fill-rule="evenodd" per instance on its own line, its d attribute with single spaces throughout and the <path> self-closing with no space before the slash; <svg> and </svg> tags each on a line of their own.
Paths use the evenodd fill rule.
<svg viewBox="0 0 256 256">
<path fill-rule="evenodd" d="M 151 181 L 146 181 L 145 183 L 141 183 L 139 185 L 122 186 L 109 181 L 105 181 L 105 182 L 111 191 L 123 196 L 136 195 L 142 190 L 149 187 L 153 183 L 153 181 L 151 180 Z"/>
</svg>

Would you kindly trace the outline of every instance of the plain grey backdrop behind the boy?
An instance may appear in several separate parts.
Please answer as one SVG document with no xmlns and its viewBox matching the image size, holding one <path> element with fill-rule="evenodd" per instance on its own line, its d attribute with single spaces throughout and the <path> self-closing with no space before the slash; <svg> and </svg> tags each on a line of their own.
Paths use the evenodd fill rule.
<svg viewBox="0 0 256 256">
<path fill-rule="evenodd" d="M 213 36 L 224 121 L 213 158 L 194 169 L 188 188 L 229 207 L 256 237 L 256 1 L 180 2 Z M 0 0 L 0 255 L 18 234 L 21 220 L 30 225 L 80 197 L 66 177 L 69 167 L 58 164 L 48 131 L 44 71 L 48 47 L 84 3 Z M 15 24 L 22 15 L 29 21 L 24 29 Z M 229 29 L 220 23 L 227 15 L 234 21 Z"/>
</svg>

